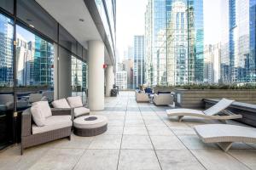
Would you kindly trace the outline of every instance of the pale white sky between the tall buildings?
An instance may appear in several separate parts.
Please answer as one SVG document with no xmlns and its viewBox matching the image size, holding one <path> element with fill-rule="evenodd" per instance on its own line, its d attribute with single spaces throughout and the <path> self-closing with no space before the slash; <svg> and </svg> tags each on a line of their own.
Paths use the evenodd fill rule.
<svg viewBox="0 0 256 170">
<path fill-rule="evenodd" d="M 124 50 L 132 45 L 134 35 L 144 34 L 144 13 L 148 0 L 117 0 L 117 51 L 120 60 Z M 221 34 L 221 0 L 203 0 L 204 43 L 217 43 Z"/>
</svg>

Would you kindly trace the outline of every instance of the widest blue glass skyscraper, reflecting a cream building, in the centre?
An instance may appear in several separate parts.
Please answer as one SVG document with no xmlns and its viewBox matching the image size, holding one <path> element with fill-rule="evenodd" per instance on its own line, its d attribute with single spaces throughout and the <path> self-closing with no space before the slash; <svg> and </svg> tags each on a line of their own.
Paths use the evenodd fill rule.
<svg viewBox="0 0 256 170">
<path fill-rule="evenodd" d="M 148 84 L 203 82 L 203 1 L 149 0 L 145 20 Z"/>
</svg>

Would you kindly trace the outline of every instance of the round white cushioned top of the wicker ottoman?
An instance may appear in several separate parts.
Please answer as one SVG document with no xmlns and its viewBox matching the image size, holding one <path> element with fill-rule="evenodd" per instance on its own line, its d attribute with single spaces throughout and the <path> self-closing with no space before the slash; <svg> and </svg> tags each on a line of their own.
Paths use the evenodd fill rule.
<svg viewBox="0 0 256 170">
<path fill-rule="evenodd" d="M 84 119 L 95 116 L 97 119 L 94 121 L 85 121 Z M 73 126 L 77 128 L 96 128 L 103 127 L 108 123 L 108 119 L 105 116 L 93 115 L 93 116 L 79 116 L 73 120 Z"/>
</svg>

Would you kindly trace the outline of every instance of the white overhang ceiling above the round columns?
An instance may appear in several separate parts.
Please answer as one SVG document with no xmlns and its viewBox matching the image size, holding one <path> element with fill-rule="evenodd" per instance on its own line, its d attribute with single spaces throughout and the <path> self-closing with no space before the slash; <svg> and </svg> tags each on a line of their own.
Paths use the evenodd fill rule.
<svg viewBox="0 0 256 170">
<path fill-rule="evenodd" d="M 97 31 L 84 0 L 36 0 L 61 26 L 63 26 L 84 48 L 88 48 L 90 40 L 100 40 L 102 37 Z M 80 21 L 80 19 L 84 21 Z M 105 48 L 105 63 L 111 64 Z"/>
</svg>

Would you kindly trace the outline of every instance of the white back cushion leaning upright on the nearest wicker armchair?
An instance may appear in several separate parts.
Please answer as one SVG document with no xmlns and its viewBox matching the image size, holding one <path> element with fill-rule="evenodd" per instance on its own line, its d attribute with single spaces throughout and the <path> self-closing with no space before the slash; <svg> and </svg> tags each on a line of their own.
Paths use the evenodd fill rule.
<svg viewBox="0 0 256 170">
<path fill-rule="evenodd" d="M 40 105 L 32 105 L 31 113 L 33 121 L 37 124 L 38 127 L 43 127 L 45 125 L 45 116 L 44 111 Z"/>
</svg>

